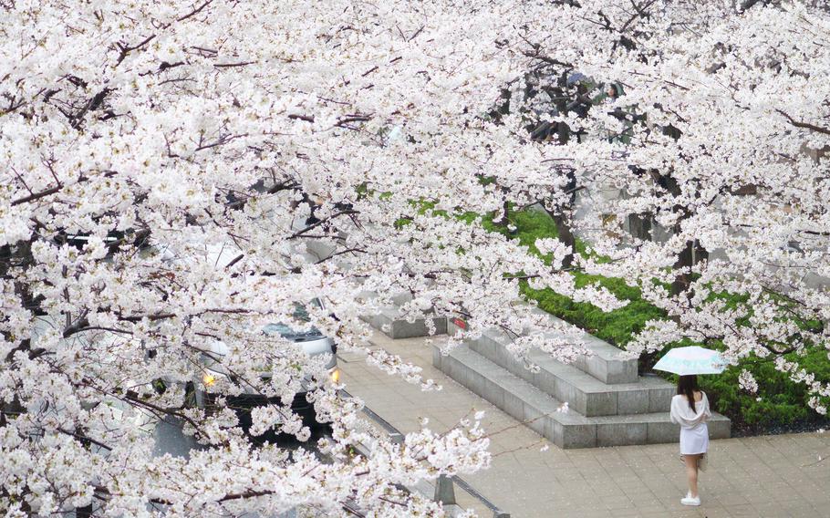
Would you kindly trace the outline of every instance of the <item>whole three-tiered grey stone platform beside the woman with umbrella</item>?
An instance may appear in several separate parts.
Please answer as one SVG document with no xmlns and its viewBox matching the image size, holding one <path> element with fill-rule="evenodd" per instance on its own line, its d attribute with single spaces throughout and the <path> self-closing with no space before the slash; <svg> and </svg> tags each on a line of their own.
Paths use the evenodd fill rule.
<svg viewBox="0 0 830 518">
<path fill-rule="evenodd" d="M 448 322 L 449 333 L 457 330 Z M 489 329 L 447 356 L 435 347 L 432 364 L 561 448 L 677 442 L 680 428 L 669 421 L 675 388 L 662 378 L 638 377 L 636 359 L 620 358 L 619 349 L 589 337 L 593 354 L 570 365 L 532 352 L 534 373 L 506 350 L 509 341 Z M 564 401 L 568 411 L 557 411 Z M 730 420 L 713 414 L 709 433 L 730 437 Z"/>
</svg>

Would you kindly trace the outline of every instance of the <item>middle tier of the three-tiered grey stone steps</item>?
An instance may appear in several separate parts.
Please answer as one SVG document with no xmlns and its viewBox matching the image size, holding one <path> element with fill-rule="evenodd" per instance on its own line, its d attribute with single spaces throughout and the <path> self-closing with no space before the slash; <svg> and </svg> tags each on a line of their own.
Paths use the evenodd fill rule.
<svg viewBox="0 0 830 518">
<path fill-rule="evenodd" d="M 634 383 L 609 385 L 537 349 L 528 354 L 539 367 L 537 372 L 533 372 L 507 350 L 505 345 L 509 342 L 510 338 L 502 331 L 488 329 L 482 337 L 465 343 L 549 396 L 567 401 L 571 409 L 586 417 L 669 411 L 671 397 L 676 390 L 663 378 L 638 378 Z"/>
</svg>

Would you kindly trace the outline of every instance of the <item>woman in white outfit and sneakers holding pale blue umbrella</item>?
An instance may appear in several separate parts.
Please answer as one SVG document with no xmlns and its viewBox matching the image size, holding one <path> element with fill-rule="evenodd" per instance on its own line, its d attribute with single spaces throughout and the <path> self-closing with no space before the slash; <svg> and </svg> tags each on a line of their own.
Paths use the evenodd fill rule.
<svg viewBox="0 0 830 518">
<path fill-rule="evenodd" d="M 709 399 L 698 389 L 698 374 L 719 374 L 726 367 L 717 351 L 703 347 L 677 347 L 660 358 L 654 368 L 680 375 L 678 393 L 671 399 L 669 419 L 680 425 L 680 457 L 686 463 L 689 493 L 683 505 L 700 505 L 698 470 L 709 450 L 711 418 Z"/>
</svg>

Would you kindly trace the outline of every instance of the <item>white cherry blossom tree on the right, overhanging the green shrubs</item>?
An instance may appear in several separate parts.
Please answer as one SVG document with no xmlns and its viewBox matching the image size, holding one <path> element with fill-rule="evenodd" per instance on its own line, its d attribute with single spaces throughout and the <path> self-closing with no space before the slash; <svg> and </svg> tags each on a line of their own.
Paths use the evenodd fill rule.
<svg viewBox="0 0 830 518">
<path fill-rule="evenodd" d="M 524 33 L 524 54 L 546 71 L 531 100 L 552 83 L 570 104 L 532 119 L 581 136 L 555 146 L 577 174 L 584 215 L 569 223 L 597 253 L 579 265 L 670 317 L 629 350 L 690 338 L 774 361 L 824 414 L 830 387 L 788 358 L 830 347 L 826 5 L 564 4 Z M 578 44 L 562 45 L 564 27 Z M 619 232 L 629 218 L 637 235 Z M 741 385 L 757 388 L 745 370 Z"/>
</svg>

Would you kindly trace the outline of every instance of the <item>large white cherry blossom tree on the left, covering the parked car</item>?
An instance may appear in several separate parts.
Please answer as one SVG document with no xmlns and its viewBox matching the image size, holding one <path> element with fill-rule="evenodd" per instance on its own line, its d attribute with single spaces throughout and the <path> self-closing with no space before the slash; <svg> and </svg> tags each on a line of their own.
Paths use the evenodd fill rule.
<svg viewBox="0 0 830 518">
<path fill-rule="evenodd" d="M 462 311 L 473 328 L 537 317 L 505 272 L 619 303 L 459 219 L 559 188 L 519 119 L 488 116 L 524 73 L 515 27 L 555 5 L 427 2 L 0 3 L 0 507 L 86 513 L 436 515 L 400 484 L 486 467 L 480 415 L 396 444 L 265 324 L 431 388 L 368 349 L 372 314 Z M 497 181 L 485 179 L 495 177 Z M 423 210 L 424 203 L 431 210 Z M 489 216 L 487 216 L 489 217 Z M 235 376 L 219 409 L 186 382 L 215 341 Z M 581 346 L 522 338 L 557 357 Z M 271 377 L 260 376 L 264 368 Z M 155 389 L 159 379 L 172 380 Z M 254 388 L 251 433 L 308 440 L 290 402 L 311 379 L 333 433 L 317 453 L 254 447 L 221 397 Z M 280 402 L 281 401 L 281 402 Z M 153 457 L 152 427 L 202 443 Z M 374 444 L 353 458 L 355 442 Z M 90 511 L 91 510 L 91 511 Z"/>
</svg>

